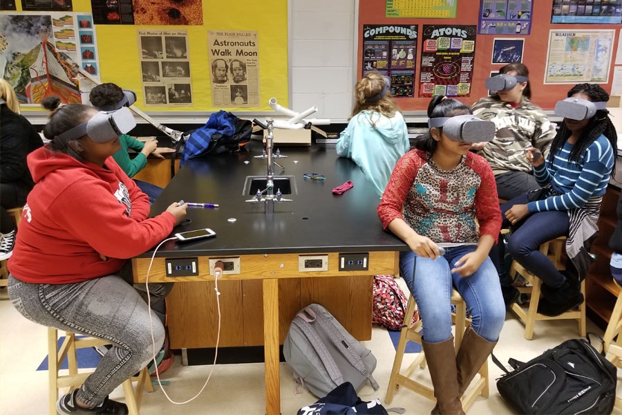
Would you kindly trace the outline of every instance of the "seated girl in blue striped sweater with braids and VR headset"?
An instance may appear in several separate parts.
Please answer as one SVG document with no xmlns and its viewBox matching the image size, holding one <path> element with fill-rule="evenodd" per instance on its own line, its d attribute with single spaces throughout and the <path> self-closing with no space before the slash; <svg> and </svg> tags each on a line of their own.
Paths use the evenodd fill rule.
<svg viewBox="0 0 622 415">
<path fill-rule="evenodd" d="M 606 109 L 609 95 L 598 84 L 577 84 L 555 105 L 564 118 L 547 158 L 531 147 L 527 160 L 541 190 L 501 206 L 504 225 L 513 226 L 508 250 L 543 281 L 538 313 L 559 315 L 581 304 L 581 281 L 593 258 L 601 201 L 615 166 L 617 135 Z M 569 261 L 559 271 L 540 252 L 545 241 L 565 236 Z"/>
</svg>

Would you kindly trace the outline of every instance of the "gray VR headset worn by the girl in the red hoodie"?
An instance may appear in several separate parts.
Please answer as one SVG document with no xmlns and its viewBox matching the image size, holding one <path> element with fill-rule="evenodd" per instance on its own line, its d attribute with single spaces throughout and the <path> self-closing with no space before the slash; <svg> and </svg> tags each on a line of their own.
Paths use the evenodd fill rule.
<svg viewBox="0 0 622 415">
<path fill-rule="evenodd" d="M 100 111 L 91 120 L 77 124 L 57 137 L 63 142 L 87 136 L 95 142 L 109 142 L 136 127 L 136 121 L 129 108 L 117 111 Z"/>
</svg>

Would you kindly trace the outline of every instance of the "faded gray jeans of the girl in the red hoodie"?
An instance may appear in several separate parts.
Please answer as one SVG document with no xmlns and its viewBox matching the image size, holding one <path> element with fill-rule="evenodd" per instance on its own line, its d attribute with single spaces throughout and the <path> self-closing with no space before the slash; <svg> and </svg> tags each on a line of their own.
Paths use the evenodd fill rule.
<svg viewBox="0 0 622 415">
<path fill-rule="evenodd" d="M 172 285 L 149 284 L 151 305 L 161 302 Z M 138 284 L 136 288 L 141 289 Z M 113 348 L 78 391 L 79 400 L 86 405 L 101 403 L 153 358 L 149 307 L 120 275 L 57 285 L 28 284 L 9 275 L 8 295 L 28 320 L 111 342 Z M 158 353 L 164 342 L 164 326 L 156 313 L 151 315 Z"/>
</svg>

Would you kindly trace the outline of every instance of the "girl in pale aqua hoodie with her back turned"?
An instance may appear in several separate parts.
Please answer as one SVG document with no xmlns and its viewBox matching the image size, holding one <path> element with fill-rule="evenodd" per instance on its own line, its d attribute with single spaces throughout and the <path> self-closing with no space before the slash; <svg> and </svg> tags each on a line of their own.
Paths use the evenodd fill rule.
<svg viewBox="0 0 622 415">
<path fill-rule="evenodd" d="M 355 106 L 337 141 L 337 155 L 354 160 L 382 196 L 397 160 L 411 149 L 408 129 L 390 92 L 390 80 L 370 71 L 355 86 Z"/>
</svg>

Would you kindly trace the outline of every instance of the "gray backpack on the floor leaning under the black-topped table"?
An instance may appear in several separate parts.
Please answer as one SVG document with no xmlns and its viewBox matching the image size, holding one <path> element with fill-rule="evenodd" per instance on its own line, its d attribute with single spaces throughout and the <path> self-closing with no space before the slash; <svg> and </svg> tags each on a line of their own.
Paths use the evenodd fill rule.
<svg viewBox="0 0 622 415">
<path fill-rule="evenodd" d="M 294 317 L 283 355 L 294 369 L 296 383 L 320 398 L 343 382 L 358 391 L 369 380 L 374 390 L 379 389 L 372 376 L 375 356 L 319 304 L 303 308 Z"/>
</svg>

